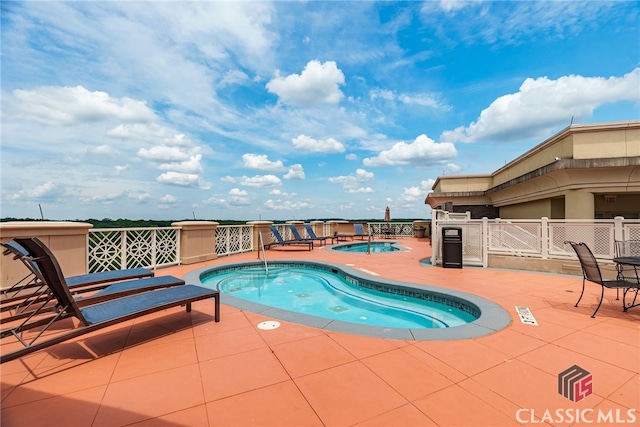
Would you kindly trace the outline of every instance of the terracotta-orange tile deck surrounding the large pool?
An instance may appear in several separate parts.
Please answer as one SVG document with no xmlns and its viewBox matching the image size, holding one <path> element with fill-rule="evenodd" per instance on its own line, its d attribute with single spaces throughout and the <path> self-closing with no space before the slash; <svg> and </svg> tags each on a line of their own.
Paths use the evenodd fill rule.
<svg viewBox="0 0 640 427">
<path fill-rule="evenodd" d="M 473 293 L 512 317 L 505 329 L 459 341 L 405 341 L 324 331 L 211 301 L 175 308 L 59 344 L 1 366 L 10 426 L 508 426 L 640 425 L 640 308 L 623 312 L 581 278 L 424 266 L 427 239 L 409 250 L 345 254 L 276 249 L 269 259 L 347 264 L 381 277 Z M 182 276 L 234 255 L 156 274 Z M 538 325 L 523 324 L 526 306 Z M 593 393 L 573 402 L 558 374 L 579 365 Z M 578 422 L 576 422 L 576 420 Z"/>
</svg>

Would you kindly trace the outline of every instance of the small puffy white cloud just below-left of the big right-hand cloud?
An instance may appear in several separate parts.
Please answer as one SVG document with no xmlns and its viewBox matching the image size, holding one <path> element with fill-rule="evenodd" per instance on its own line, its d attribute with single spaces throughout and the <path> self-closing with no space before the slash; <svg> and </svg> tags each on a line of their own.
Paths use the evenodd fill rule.
<svg viewBox="0 0 640 427">
<path fill-rule="evenodd" d="M 365 166 L 390 165 L 433 165 L 454 158 L 458 152 L 450 142 L 435 142 L 422 134 L 412 143 L 397 142 L 389 150 L 381 151 L 376 157 L 362 160 Z"/>
</svg>

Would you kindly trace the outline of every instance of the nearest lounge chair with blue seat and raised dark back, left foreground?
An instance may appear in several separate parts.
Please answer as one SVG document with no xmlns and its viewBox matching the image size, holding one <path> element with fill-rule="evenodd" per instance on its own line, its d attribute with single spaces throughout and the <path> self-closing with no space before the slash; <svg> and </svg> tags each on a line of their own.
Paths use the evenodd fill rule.
<svg viewBox="0 0 640 427">
<path fill-rule="evenodd" d="M 33 242 L 42 251 L 48 252 L 48 248 L 37 238 L 21 239 L 18 241 L 25 246 L 26 240 Z M 31 245 L 29 245 L 31 250 Z M 191 311 L 191 303 L 203 299 L 214 299 L 214 319 L 220 321 L 220 293 L 219 291 L 204 288 L 202 286 L 184 285 L 171 288 L 157 289 L 147 292 L 116 298 L 98 304 L 81 307 L 71 296 L 69 288 L 65 284 L 64 276 L 55 258 L 42 256 L 34 259 L 42 278 L 51 288 L 59 303 L 56 317 L 51 322 L 44 325 L 39 332 L 34 335 L 24 332 L 27 329 L 14 329 L 10 335 L 3 336 L 4 339 L 14 337 L 22 345 L 17 350 L 9 350 L 8 353 L 0 356 L 0 363 L 8 362 L 33 353 L 38 350 L 50 347 L 55 344 L 77 338 L 84 334 L 100 330 L 118 323 L 136 319 L 147 314 L 165 310 L 167 308 L 185 305 L 186 311 Z M 65 317 L 75 317 L 79 326 L 73 329 L 60 332 L 60 328 L 49 328 L 56 320 Z M 42 326 L 42 325 L 39 325 Z M 29 328 L 31 329 L 31 328 Z M 42 340 L 39 338 L 47 332 Z M 3 349 L 14 348 L 17 343 L 3 343 Z"/>
</svg>

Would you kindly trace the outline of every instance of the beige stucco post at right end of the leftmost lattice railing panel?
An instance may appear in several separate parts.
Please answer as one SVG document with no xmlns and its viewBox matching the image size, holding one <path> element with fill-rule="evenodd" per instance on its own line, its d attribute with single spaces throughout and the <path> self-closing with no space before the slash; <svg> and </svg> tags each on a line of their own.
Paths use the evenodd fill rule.
<svg viewBox="0 0 640 427">
<path fill-rule="evenodd" d="M 218 258 L 216 254 L 215 221 L 180 221 L 180 264 L 195 264 Z"/>
</svg>

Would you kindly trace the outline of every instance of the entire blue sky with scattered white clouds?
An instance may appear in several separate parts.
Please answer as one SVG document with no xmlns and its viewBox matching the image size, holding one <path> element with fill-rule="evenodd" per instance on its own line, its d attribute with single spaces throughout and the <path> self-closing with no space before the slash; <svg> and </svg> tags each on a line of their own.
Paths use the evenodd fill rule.
<svg viewBox="0 0 640 427">
<path fill-rule="evenodd" d="M 637 1 L 2 1 L 2 217 L 429 218 L 640 118 Z"/>
</svg>

